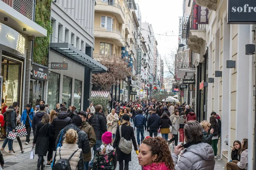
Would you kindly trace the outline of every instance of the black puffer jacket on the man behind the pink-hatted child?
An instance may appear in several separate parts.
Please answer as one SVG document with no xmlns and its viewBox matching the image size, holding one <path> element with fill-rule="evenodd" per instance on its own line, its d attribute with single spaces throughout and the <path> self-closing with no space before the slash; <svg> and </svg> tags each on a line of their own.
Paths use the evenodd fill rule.
<svg viewBox="0 0 256 170">
<path fill-rule="evenodd" d="M 106 122 L 104 117 L 96 112 L 93 116 L 90 117 L 89 123 L 92 124 L 94 132 L 96 134 L 96 139 L 101 140 L 102 134 L 107 131 Z"/>
</svg>

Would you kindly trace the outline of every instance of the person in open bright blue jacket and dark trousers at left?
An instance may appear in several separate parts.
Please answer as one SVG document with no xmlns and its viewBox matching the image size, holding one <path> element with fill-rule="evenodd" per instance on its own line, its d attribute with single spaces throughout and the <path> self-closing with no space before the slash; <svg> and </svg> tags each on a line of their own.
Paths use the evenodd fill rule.
<svg viewBox="0 0 256 170">
<path fill-rule="evenodd" d="M 25 144 L 29 144 L 30 142 L 29 137 L 31 133 L 32 120 L 33 120 L 34 114 L 35 113 L 32 106 L 28 103 L 26 105 L 26 109 L 22 112 L 21 119 L 20 119 L 20 122 L 23 122 L 23 125 L 25 125 L 26 131 L 28 133 L 28 135 L 26 136 Z"/>
</svg>

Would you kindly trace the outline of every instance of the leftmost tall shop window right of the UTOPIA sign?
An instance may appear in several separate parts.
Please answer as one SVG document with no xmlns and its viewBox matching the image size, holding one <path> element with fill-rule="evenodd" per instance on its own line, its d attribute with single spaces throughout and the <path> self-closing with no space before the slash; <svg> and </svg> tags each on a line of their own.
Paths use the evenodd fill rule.
<svg viewBox="0 0 256 170">
<path fill-rule="evenodd" d="M 54 72 L 50 72 L 48 76 L 48 95 L 47 103 L 50 111 L 56 108 L 56 103 L 59 102 L 60 94 L 60 75 Z"/>
</svg>

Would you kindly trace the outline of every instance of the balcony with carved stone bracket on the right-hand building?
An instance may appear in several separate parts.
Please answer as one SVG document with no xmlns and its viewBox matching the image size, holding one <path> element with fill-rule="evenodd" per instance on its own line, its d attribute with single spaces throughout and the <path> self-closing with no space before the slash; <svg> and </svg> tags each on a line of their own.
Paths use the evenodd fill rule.
<svg viewBox="0 0 256 170">
<path fill-rule="evenodd" d="M 186 26 L 186 40 L 189 48 L 195 53 L 200 54 L 205 46 L 206 24 L 198 23 L 197 17 L 189 17 Z"/>
</svg>

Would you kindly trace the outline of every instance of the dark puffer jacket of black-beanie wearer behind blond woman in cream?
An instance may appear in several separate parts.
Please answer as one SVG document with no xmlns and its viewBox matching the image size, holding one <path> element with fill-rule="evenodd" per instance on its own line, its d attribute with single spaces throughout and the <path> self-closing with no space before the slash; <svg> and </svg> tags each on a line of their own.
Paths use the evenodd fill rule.
<svg viewBox="0 0 256 170">
<path fill-rule="evenodd" d="M 70 124 L 70 125 L 67 125 L 66 127 L 64 127 L 62 136 L 61 136 L 62 130 L 60 131 L 60 133 L 58 134 L 57 141 L 56 141 L 56 146 L 58 145 L 60 137 L 61 137 L 61 146 L 62 146 L 63 141 L 65 139 L 65 134 L 66 134 L 67 130 L 69 130 L 69 129 L 76 130 L 76 132 L 78 134 L 78 143 L 77 143 L 78 147 L 80 149 L 82 149 L 84 154 L 89 153 L 89 151 L 90 151 L 90 143 L 89 143 L 88 136 L 87 136 L 87 134 L 84 131 L 80 130 L 80 128 L 77 127 L 75 124 Z"/>
</svg>

